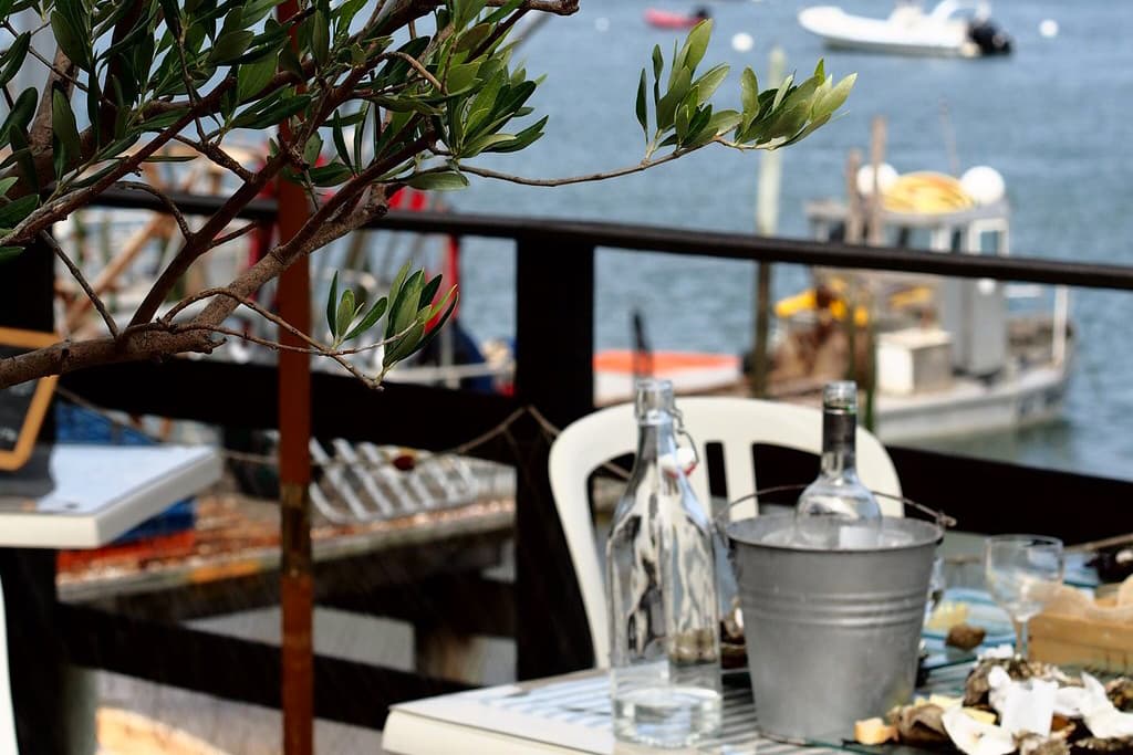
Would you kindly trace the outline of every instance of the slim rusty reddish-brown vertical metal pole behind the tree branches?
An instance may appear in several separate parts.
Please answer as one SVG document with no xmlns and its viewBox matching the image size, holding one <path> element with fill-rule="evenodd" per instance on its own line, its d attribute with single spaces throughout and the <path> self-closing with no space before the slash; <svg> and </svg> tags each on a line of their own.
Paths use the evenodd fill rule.
<svg viewBox="0 0 1133 755">
<path fill-rule="evenodd" d="M 296 0 L 286 0 L 276 14 L 280 20 L 298 12 Z M 295 44 L 295 29 L 292 44 Z M 290 138 L 287 123 L 280 138 Z M 292 238 L 310 216 L 303 187 L 286 179 L 279 182 L 280 240 Z M 306 257 L 283 272 L 279 283 L 279 314 L 303 333 L 310 332 L 310 267 Z M 282 328 L 279 340 L 303 346 Z M 280 388 L 280 608 L 282 610 L 281 703 L 283 752 L 314 753 L 314 644 L 312 619 L 314 584 L 310 557 L 310 357 L 281 351 Z"/>
</svg>

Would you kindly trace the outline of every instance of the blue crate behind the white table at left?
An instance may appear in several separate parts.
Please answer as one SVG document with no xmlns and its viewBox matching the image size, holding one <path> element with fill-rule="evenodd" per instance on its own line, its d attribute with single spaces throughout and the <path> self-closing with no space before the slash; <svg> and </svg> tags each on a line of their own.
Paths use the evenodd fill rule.
<svg viewBox="0 0 1133 755">
<path fill-rule="evenodd" d="M 111 446 L 156 445 L 156 441 L 144 432 L 116 424 L 95 411 L 62 401 L 56 402 L 56 441 Z M 196 500 L 186 498 L 121 534 L 112 544 L 191 530 L 196 526 Z"/>
</svg>

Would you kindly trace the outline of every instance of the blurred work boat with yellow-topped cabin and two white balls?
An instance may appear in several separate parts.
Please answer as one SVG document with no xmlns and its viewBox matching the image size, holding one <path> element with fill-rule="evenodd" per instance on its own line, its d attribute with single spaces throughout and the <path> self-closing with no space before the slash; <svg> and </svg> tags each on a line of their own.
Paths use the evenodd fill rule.
<svg viewBox="0 0 1133 755">
<path fill-rule="evenodd" d="M 886 168 L 883 165 L 883 169 Z M 867 223 L 886 246 L 926 254 L 1011 254 L 1003 179 L 987 166 L 961 179 L 879 170 L 880 207 Z M 806 212 L 815 238 L 844 238 L 861 201 L 824 199 Z M 872 386 L 874 429 L 887 443 L 1014 430 L 1060 415 L 1073 363 L 1064 286 L 885 272 L 813 269 L 812 285 L 778 302 L 770 386 L 815 394 L 815 381 L 860 374 Z M 850 325 L 852 319 L 853 326 Z"/>
</svg>

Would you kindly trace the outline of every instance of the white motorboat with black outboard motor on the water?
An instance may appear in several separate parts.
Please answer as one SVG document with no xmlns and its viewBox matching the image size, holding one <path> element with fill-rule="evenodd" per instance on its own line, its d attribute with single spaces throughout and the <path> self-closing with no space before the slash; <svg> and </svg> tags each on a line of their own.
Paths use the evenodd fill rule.
<svg viewBox="0 0 1133 755">
<path fill-rule="evenodd" d="M 800 11 L 799 23 L 830 48 L 978 58 L 1006 54 L 1012 46 L 1011 38 L 989 20 L 986 2 L 943 0 L 929 12 L 919 3 L 898 2 L 888 18 L 817 6 Z"/>
</svg>

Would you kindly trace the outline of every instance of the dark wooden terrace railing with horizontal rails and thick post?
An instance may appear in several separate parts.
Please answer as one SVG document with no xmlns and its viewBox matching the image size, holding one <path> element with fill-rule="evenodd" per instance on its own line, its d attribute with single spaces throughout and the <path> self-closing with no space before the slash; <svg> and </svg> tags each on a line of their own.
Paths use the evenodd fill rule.
<svg viewBox="0 0 1133 755">
<path fill-rule="evenodd" d="M 220 203 L 212 197 L 173 199 L 186 214 L 210 214 Z M 135 192 L 107 192 L 101 201 L 162 211 L 156 200 Z M 273 203 L 263 200 L 253 203 L 246 216 L 270 221 L 273 214 Z M 1038 258 L 937 255 L 608 223 L 431 213 L 391 212 L 378 228 L 514 240 L 516 394 L 505 397 L 395 383 L 373 392 L 352 378 L 320 372 L 314 376 L 312 401 L 313 431 L 320 437 L 445 449 L 499 426 L 523 406 L 537 407 L 560 426 L 591 411 L 594 263 L 598 248 L 1133 290 L 1133 267 Z M 244 428 L 276 424 L 276 380 L 270 367 L 173 359 L 163 364 L 91 369 L 65 376 L 62 384 L 97 405 L 135 414 Z M 202 386 L 215 389 L 202 391 Z M 546 440 L 534 421 L 518 422 L 511 439 L 510 444 L 492 443 L 474 452 L 518 469 L 514 606 L 502 607 L 492 586 L 485 594 L 491 593 L 493 610 L 506 614 L 505 624 L 514 629 L 520 678 L 586 668 L 593 662 L 589 634 L 551 499 Z M 1025 529 L 1058 534 L 1070 542 L 1133 531 L 1130 482 L 912 448 L 889 451 L 906 494 L 948 512 L 966 530 L 991 533 Z M 783 469 L 791 464 L 799 465 L 796 481 L 812 475 L 812 462 L 784 456 Z M 449 587 L 435 589 L 443 592 Z M 375 600 L 382 595 L 399 600 L 389 591 L 375 594 Z M 357 600 L 339 597 L 337 604 L 357 604 Z M 377 609 L 374 612 L 381 612 Z M 274 676 L 269 675 L 259 685 L 211 681 L 212 677 L 198 668 L 201 654 L 214 652 L 214 645 L 225 642 L 230 643 L 228 652 L 258 659 L 266 668 L 275 658 L 269 646 L 202 638 L 184 627 L 120 619 L 88 608 L 62 607 L 60 611 L 67 626 L 63 641 L 76 662 L 278 704 L 278 686 L 269 684 L 276 680 Z M 387 612 L 400 615 L 394 606 Z M 179 655 L 172 651 L 182 643 L 193 652 Z M 170 653 L 163 663 L 145 663 L 137 659 L 148 655 L 137 647 L 151 654 L 164 647 Z M 320 714 L 355 724 L 380 727 L 389 703 L 452 688 L 446 683 L 331 659 L 320 658 L 316 666 L 321 680 L 341 674 L 341 679 L 370 690 L 367 705 L 359 709 L 337 705 L 327 698 L 337 693 L 325 684 L 318 687 Z M 214 669 L 213 674 L 221 671 Z"/>
</svg>

